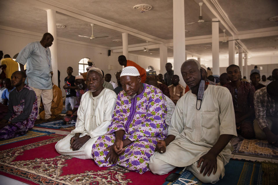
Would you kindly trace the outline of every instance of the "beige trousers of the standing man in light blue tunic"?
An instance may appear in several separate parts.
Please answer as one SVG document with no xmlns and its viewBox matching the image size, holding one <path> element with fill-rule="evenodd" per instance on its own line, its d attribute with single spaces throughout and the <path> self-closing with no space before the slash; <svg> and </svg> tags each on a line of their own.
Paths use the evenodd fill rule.
<svg viewBox="0 0 278 185">
<path fill-rule="evenodd" d="M 38 98 L 38 116 L 37 119 L 40 119 L 39 115 L 39 107 L 41 105 L 41 99 L 43 100 L 43 106 L 45 110 L 45 119 L 51 118 L 51 104 L 53 99 L 53 89 L 37 89 L 34 87 L 31 87 Z"/>
</svg>

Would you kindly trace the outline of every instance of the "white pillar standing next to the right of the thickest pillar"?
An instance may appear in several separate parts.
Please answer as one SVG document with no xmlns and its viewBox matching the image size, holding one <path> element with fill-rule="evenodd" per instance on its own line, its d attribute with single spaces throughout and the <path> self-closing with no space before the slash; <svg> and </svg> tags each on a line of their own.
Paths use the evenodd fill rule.
<svg viewBox="0 0 278 185">
<path fill-rule="evenodd" d="M 218 21 L 213 18 L 213 21 Z M 220 75 L 219 69 L 219 22 L 212 23 L 212 73 Z"/>
</svg>

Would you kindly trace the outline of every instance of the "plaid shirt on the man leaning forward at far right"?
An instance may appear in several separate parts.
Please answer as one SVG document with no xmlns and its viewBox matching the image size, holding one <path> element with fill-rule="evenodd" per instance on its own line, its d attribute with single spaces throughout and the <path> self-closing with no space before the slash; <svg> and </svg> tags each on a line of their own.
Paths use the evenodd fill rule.
<svg viewBox="0 0 278 185">
<path fill-rule="evenodd" d="M 271 99 L 268 96 L 266 92 L 266 87 L 258 89 L 255 92 L 254 106 L 255 106 L 256 119 L 261 129 L 268 127 L 266 117 L 278 118 L 278 112 L 277 111 L 275 112 L 275 100 Z"/>
</svg>

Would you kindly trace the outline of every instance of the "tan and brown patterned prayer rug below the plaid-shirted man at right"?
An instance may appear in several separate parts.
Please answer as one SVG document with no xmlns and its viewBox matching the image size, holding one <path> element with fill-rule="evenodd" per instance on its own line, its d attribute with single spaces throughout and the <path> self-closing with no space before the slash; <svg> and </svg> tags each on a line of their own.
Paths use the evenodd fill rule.
<svg viewBox="0 0 278 185">
<path fill-rule="evenodd" d="M 244 139 L 242 136 L 231 140 L 233 154 L 278 159 L 278 147 L 268 144 L 267 140 Z"/>
</svg>

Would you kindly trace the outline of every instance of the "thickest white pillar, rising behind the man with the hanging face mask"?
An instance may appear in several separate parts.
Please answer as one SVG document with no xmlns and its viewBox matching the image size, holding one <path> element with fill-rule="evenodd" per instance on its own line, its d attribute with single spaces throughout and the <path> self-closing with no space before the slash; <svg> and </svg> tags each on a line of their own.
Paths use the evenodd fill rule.
<svg viewBox="0 0 278 185">
<path fill-rule="evenodd" d="M 174 45 L 174 73 L 180 77 L 180 84 L 186 86 L 180 67 L 186 60 L 185 55 L 185 27 L 184 0 L 173 1 L 173 45 Z"/>
</svg>

